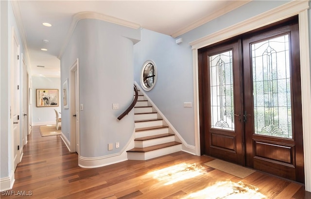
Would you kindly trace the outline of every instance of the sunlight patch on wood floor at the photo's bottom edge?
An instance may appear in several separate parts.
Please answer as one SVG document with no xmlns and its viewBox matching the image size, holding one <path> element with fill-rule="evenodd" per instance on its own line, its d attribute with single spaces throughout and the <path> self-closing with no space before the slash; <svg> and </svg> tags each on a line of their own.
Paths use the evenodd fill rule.
<svg viewBox="0 0 311 199">
<path fill-rule="evenodd" d="M 184 199 L 266 199 L 259 188 L 243 182 L 220 181 L 205 189 L 191 193 Z"/>
</svg>

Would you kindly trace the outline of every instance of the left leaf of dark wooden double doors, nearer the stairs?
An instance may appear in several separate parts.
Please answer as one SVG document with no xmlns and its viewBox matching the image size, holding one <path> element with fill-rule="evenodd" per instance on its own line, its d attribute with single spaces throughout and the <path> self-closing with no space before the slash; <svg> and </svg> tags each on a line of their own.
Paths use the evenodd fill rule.
<svg viewBox="0 0 311 199">
<path fill-rule="evenodd" d="M 241 40 L 202 49 L 199 53 L 200 123 L 205 154 L 244 164 Z M 202 146 L 202 145 L 201 145 Z"/>
</svg>

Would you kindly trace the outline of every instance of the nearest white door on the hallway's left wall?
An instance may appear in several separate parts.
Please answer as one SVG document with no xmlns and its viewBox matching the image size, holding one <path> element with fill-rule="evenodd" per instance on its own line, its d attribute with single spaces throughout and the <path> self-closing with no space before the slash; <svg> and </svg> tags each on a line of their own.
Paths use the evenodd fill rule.
<svg viewBox="0 0 311 199">
<path fill-rule="evenodd" d="M 13 132 L 13 160 L 14 170 L 20 162 L 19 148 L 19 43 L 15 36 L 14 29 L 12 29 L 12 65 L 11 65 L 11 121 Z"/>
</svg>

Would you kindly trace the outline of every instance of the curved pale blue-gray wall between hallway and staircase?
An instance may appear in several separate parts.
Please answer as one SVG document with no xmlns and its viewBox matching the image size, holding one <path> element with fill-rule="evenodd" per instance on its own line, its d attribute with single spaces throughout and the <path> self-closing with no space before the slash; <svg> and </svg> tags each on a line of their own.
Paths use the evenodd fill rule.
<svg viewBox="0 0 311 199">
<path fill-rule="evenodd" d="M 79 58 L 80 104 L 84 104 L 80 111 L 83 157 L 120 152 L 133 134 L 133 112 L 121 121 L 117 117 L 133 100 L 132 40 L 139 39 L 139 29 L 97 19 L 80 20 L 72 34 L 61 58 L 61 80 L 69 78 L 70 66 Z M 112 103 L 119 103 L 119 109 L 112 109 Z M 69 118 L 70 108 L 62 109 L 62 132 L 70 140 Z M 108 143 L 116 142 L 120 142 L 120 148 L 108 151 Z"/>
</svg>

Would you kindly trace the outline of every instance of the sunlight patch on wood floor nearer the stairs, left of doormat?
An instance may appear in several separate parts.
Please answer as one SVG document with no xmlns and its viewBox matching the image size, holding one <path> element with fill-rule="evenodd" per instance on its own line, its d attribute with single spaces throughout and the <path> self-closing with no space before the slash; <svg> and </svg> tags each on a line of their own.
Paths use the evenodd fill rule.
<svg viewBox="0 0 311 199">
<path fill-rule="evenodd" d="M 178 164 L 150 172 L 154 179 L 166 182 L 164 185 L 184 181 L 205 173 L 205 168 L 196 164 Z"/>
</svg>

